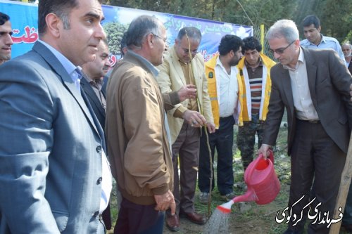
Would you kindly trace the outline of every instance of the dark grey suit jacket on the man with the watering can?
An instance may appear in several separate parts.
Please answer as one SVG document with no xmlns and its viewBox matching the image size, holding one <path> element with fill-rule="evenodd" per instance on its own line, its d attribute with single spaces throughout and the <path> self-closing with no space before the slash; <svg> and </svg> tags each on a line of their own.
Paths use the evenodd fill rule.
<svg viewBox="0 0 352 234">
<path fill-rule="evenodd" d="M 322 126 L 332 140 L 347 152 L 352 126 L 352 103 L 349 86 L 352 83 L 346 65 L 333 50 L 302 48 L 306 58 L 310 96 Z M 272 91 L 263 143 L 274 145 L 280 122 L 287 110 L 289 125 L 288 153 L 294 141 L 296 117 L 289 71 L 278 63 L 271 69 Z M 349 126 L 348 126 L 349 124 Z"/>
</svg>

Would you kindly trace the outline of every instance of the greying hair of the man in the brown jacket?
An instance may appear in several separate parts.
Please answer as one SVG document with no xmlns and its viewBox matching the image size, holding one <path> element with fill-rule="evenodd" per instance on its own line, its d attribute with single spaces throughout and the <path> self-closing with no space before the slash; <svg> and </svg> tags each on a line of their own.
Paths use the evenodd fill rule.
<svg viewBox="0 0 352 234">
<path fill-rule="evenodd" d="M 143 39 L 147 34 L 160 34 L 161 22 L 154 16 L 141 15 L 132 20 L 126 32 L 126 45 L 141 47 Z"/>
</svg>

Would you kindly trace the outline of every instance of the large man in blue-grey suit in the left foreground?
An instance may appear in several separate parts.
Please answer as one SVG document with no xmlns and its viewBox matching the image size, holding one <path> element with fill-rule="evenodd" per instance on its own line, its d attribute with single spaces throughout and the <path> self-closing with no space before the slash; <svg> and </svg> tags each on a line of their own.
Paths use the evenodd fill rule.
<svg viewBox="0 0 352 234">
<path fill-rule="evenodd" d="M 94 60 L 99 0 L 41 0 L 39 41 L 0 66 L 0 233 L 105 233 L 105 140 L 79 65 Z"/>
</svg>

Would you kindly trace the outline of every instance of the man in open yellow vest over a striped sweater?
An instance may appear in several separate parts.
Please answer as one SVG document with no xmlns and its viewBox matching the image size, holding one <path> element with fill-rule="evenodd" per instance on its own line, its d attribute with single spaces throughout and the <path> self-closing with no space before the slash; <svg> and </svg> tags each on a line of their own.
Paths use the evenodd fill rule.
<svg viewBox="0 0 352 234">
<path fill-rule="evenodd" d="M 271 92 L 270 69 L 275 62 L 265 56 L 258 39 L 246 37 L 242 51 L 244 58 L 237 65 L 239 82 L 239 132 L 237 146 L 241 151 L 244 170 L 253 161 L 256 134 L 258 148 L 268 113 Z"/>
</svg>

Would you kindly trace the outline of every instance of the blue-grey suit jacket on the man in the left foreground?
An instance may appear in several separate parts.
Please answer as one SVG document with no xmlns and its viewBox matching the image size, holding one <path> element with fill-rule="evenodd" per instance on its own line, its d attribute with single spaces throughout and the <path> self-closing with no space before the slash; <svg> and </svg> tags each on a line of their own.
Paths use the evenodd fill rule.
<svg viewBox="0 0 352 234">
<path fill-rule="evenodd" d="M 1 234 L 96 233 L 105 142 L 89 109 L 39 42 L 0 66 Z"/>
</svg>

